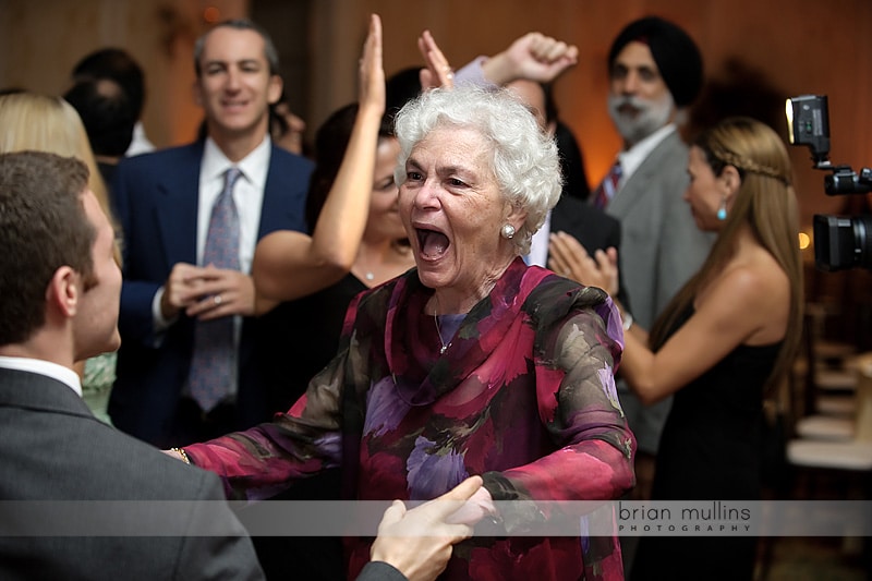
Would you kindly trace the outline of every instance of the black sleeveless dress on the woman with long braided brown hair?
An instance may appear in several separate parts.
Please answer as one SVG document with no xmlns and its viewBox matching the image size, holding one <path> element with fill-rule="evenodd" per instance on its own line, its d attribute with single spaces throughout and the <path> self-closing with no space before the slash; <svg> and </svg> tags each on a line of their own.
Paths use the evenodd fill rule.
<svg viewBox="0 0 872 581">
<path fill-rule="evenodd" d="M 739 346 L 675 394 L 652 499 L 760 499 L 763 387 L 780 347 Z M 754 536 L 643 536 L 632 580 L 750 581 L 755 557 Z"/>
</svg>

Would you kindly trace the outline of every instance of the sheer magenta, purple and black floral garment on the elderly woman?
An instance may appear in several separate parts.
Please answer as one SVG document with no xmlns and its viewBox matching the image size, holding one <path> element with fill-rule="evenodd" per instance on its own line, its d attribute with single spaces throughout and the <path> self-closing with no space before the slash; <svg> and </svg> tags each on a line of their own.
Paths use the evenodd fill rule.
<svg viewBox="0 0 872 581">
<path fill-rule="evenodd" d="M 607 500 L 633 485 L 610 299 L 516 259 L 444 354 L 416 270 L 361 293 L 340 351 L 274 422 L 186 448 L 230 498 L 268 498 L 341 465 L 351 498 L 428 499 L 481 474 L 495 500 Z M 514 504 L 512 504 L 513 506 Z M 519 504 L 521 506 L 523 504 Z M 622 579 L 615 535 L 502 536 L 455 547 L 440 579 Z M 349 542 L 349 578 L 371 540 Z"/>
</svg>

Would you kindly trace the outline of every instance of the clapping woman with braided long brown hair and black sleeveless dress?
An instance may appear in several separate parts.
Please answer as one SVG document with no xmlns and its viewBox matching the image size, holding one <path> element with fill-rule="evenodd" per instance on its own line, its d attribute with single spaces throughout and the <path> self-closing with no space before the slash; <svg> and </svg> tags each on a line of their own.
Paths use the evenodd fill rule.
<svg viewBox="0 0 872 581">
<path fill-rule="evenodd" d="M 759 499 L 763 399 L 787 373 L 802 322 L 790 161 L 772 129 L 730 118 L 693 143 L 688 173 L 685 201 L 718 238 L 650 335 L 621 311 L 619 373 L 645 403 L 675 394 L 653 499 Z M 552 253 L 552 268 L 616 291 L 615 253 L 589 257 L 567 238 Z M 750 580 L 755 546 L 752 536 L 644 536 L 631 579 Z"/>
</svg>

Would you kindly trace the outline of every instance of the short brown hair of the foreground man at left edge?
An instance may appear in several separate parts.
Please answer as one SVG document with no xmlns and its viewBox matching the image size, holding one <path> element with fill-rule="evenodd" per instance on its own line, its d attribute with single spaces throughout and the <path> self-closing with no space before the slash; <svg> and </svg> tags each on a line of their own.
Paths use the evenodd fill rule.
<svg viewBox="0 0 872 581">
<path fill-rule="evenodd" d="M 73 157 L 0 154 L 0 346 L 25 342 L 45 325 L 58 268 L 70 266 L 84 285 L 93 279 L 87 183 L 87 167 Z"/>
</svg>

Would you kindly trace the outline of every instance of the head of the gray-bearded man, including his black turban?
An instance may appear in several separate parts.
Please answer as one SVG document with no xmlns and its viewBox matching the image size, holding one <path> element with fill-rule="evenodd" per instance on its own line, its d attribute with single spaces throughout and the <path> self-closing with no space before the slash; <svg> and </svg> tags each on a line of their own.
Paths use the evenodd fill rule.
<svg viewBox="0 0 872 581">
<path fill-rule="evenodd" d="M 702 57 L 688 34 L 657 16 L 628 24 L 608 52 L 611 120 L 634 145 L 675 119 L 702 88 Z"/>
</svg>

